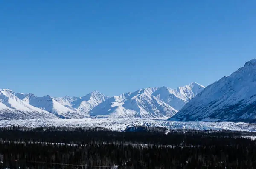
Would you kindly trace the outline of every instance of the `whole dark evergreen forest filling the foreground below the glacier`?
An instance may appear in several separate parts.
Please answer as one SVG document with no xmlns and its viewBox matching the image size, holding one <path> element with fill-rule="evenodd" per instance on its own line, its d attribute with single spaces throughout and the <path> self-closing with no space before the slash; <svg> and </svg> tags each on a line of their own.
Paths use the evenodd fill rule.
<svg viewBox="0 0 256 169">
<path fill-rule="evenodd" d="M 256 141 L 240 138 L 253 134 L 211 130 L 166 134 L 166 129 L 157 127 L 134 127 L 126 132 L 10 127 L 0 129 L 0 161 L 2 167 L 11 169 L 110 169 L 114 165 L 120 169 L 253 169 Z"/>
</svg>

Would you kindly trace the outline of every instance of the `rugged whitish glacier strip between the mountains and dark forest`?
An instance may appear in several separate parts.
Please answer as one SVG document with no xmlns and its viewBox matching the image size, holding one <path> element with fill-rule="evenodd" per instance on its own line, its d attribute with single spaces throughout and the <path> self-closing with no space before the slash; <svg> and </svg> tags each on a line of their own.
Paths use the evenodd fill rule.
<svg viewBox="0 0 256 169">
<path fill-rule="evenodd" d="M 138 118 L 85 118 L 85 119 L 38 119 L 38 120 L 2 120 L 0 127 L 9 126 L 27 127 L 105 127 L 110 130 L 124 131 L 132 126 L 167 127 L 169 129 L 196 129 L 196 130 L 238 130 L 256 131 L 256 124 L 233 123 L 233 122 L 182 122 L 164 119 L 138 119 Z"/>
</svg>

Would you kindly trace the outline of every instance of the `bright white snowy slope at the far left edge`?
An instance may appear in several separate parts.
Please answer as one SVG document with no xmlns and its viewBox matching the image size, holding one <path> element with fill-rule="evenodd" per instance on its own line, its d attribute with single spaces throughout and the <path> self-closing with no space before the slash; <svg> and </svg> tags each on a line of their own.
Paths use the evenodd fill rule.
<svg viewBox="0 0 256 169">
<path fill-rule="evenodd" d="M 0 89 L 0 120 L 57 118 L 52 113 L 28 104 L 9 89 Z"/>
</svg>

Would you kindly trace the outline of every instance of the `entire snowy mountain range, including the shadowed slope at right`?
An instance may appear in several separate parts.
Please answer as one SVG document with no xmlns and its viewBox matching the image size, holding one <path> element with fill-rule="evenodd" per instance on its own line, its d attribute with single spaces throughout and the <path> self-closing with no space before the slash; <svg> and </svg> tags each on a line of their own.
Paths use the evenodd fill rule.
<svg viewBox="0 0 256 169">
<path fill-rule="evenodd" d="M 49 118 L 169 118 L 174 121 L 256 122 L 256 59 L 204 87 L 148 87 L 108 97 L 38 97 L 0 89 L 0 120 Z"/>
</svg>

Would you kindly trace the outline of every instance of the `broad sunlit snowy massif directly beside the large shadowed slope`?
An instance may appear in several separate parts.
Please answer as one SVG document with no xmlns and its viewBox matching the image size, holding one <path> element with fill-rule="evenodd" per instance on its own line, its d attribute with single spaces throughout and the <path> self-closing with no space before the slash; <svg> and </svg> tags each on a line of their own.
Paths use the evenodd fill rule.
<svg viewBox="0 0 256 169">
<path fill-rule="evenodd" d="M 90 110 L 96 117 L 159 118 L 171 117 L 204 86 L 191 83 L 184 87 L 150 87 L 113 96 Z"/>
</svg>

